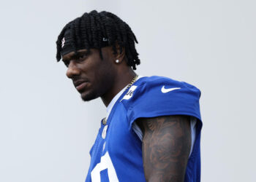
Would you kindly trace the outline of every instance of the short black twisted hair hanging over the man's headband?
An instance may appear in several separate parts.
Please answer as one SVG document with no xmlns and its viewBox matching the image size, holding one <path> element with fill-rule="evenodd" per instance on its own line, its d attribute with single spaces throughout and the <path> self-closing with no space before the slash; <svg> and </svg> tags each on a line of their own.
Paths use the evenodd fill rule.
<svg viewBox="0 0 256 182">
<path fill-rule="evenodd" d="M 102 58 L 102 47 L 112 46 L 113 53 L 117 54 L 116 44 L 119 46 L 119 52 L 125 50 L 127 65 L 136 69 L 140 64 L 138 52 L 135 49 L 135 42 L 138 44 L 135 34 L 127 23 L 111 12 L 97 12 L 96 10 L 84 13 L 81 17 L 72 20 L 64 26 L 56 41 L 57 61 L 61 60 L 61 40 L 65 32 L 69 30 L 71 40 L 69 40 L 72 50 L 77 52 L 80 49 L 90 50 L 96 48 Z M 102 39 L 108 40 L 106 45 Z"/>
</svg>

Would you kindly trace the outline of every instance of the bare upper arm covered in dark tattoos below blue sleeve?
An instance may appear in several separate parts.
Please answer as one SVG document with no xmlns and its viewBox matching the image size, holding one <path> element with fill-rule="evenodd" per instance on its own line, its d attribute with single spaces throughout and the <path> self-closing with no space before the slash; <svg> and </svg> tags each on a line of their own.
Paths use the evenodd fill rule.
<svg viewBox="0 0 256 182">
<path fill-rule="evenodd" d="M 191 148 L 189 116 L 140 118 L 146 181 L 182 182 Z"/>
</svg>

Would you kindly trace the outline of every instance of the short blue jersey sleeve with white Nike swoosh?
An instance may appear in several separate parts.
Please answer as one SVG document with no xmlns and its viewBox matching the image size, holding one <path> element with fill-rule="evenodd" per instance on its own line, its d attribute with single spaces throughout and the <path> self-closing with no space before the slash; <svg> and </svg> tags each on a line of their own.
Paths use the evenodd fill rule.
<svg viewBox="0 0 256 182">
<path fill-rule="evenodd" d="M 200 118 L 200 90 L 186 82 L 165 77 L 143 82 L 129 98 L 127 119 L 129 129 L 138 118 L 187 115 Z"/>
</svg>

